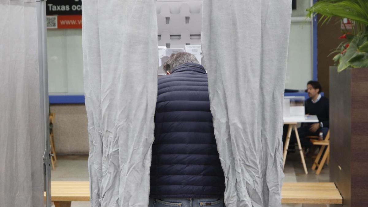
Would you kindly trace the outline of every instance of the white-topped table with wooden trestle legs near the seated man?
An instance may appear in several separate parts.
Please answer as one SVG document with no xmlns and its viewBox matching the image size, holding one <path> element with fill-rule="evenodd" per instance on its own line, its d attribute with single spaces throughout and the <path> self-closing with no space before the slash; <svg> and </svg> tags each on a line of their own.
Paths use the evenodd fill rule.
<svg viewBox="0 0 368 207">
<path fill-rule="evenodd" d="M 289 124 L 289 129 L 287 130 L 287 136 L 286 136 L 285 146 L 284 146 L 284 166 L 285 166 L 285 161 L 286 161 L 287 149 L 289 148 L 291 131 L 294 128 L 295 135 L 296 135 L 296 138 L 297 138 L 297 143 L 298 143 L 298 150 L 300 152 L 301 162 L 302 162 L 303 167 L 304 167 L 304 172 L 305 172 L 305 174 L 308 174 L 307 165 L 305 165 L 304 153 L 303 153 L 303 150 L 302 150 L 302 147 L 301 147 L 301 144 L 300 144 L 300 138 L 299 138 L 299 134 L 298 134 L 298 128 L 297 128 L 298 123 L 318 123 L 318 118 L 315 115 L 284 117 L 284 124 Z"/>
</svg>

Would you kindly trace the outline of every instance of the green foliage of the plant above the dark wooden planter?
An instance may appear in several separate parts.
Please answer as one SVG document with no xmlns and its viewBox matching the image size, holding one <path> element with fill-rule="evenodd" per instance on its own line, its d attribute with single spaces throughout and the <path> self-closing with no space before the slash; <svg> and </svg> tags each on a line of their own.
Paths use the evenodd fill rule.
<svg viewBox="0 0 368 207">
<path fill-rule="evenodd" d="M 339 72 L 348 67 L 368 67 L 368 0 L 320 0 L 307 11 L 308 17 L 321 14 L 318 23 L 322 25 L 331 17 L 347 18 L 353 22 L 353 34 L 345 27 L 340 39 L 346 41 L 333 52 L 337 53 L 333 60 Z"/>
</svg>

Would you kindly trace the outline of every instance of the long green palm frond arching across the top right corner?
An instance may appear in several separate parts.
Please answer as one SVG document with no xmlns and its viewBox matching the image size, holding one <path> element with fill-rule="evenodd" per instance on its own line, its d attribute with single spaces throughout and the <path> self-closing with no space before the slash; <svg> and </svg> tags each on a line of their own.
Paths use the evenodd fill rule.
<svg viewBox="0 0 368 207">
<path fill-rule="evenodd" d="M 331 17 L 342 17 L 368 25 L 368 0 L 321 0 L 307 11 L 308 17 L 321 14 L 322 23 Z"/>
</svg>

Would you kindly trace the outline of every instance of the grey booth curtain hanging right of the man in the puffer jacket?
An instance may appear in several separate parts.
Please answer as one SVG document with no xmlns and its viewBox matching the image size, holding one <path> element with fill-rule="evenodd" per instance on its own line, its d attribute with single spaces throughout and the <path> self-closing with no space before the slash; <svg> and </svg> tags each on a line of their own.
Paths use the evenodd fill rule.
<svg viewBox="0 0 368 207">
<path fill-rule="evenodd" d="M 227 207 L 281 206 L 291 0 L 204 0 L 202 52 Z"/>
</svg>

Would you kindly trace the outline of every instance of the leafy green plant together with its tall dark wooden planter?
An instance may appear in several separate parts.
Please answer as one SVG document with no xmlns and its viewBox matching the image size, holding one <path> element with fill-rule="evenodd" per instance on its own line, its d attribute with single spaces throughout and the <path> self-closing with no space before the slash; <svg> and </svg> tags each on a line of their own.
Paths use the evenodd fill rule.
<svg viewBox="0 0 368 207">
<path fill-rule="evenodd" d="M 368 0 L 320 0 L 307 9 L 321 14 L 319 23 L 331 17 L 353 21 L 346 26 L 334 51 L 336 67 L 330 67 L 330 182 L 343 197 L 343 206 L 367 206 L 368 196 Z M 323 61 L 323 60 L 319 60 Z M 362 187 L 363 186 L 363 187 Z"/>
</svg>

